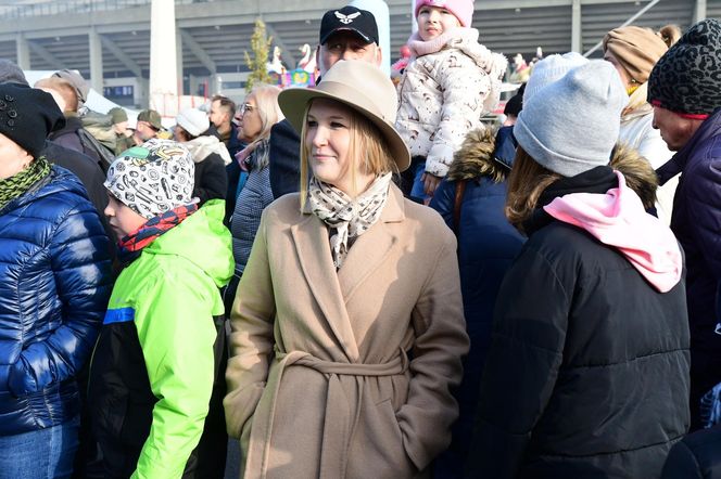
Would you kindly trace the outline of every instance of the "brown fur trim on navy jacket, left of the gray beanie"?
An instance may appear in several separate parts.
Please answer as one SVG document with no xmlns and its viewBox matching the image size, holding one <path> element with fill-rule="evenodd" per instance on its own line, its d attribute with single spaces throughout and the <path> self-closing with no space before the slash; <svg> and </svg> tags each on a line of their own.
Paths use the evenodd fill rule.
<svg viewBox="0 0 721 479">
<path fill-rule="evenodd" d="M 447 179 L 458 181 L 490 177 L 496 183 L 503 181 L 510 170 L 495 159 L 494 151 L 495 134 L 489 128 L 471 131 L 454 154 Z"/>
</svg>

